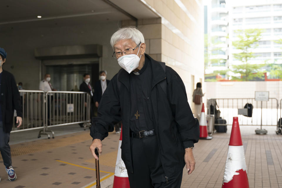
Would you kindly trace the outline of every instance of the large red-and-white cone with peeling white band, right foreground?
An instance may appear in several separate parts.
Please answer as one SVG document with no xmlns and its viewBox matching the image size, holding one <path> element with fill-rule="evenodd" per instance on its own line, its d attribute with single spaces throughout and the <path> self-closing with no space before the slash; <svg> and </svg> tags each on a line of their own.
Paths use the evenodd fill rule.
<svg viewBox="0 0 282 188">
<path fill-rule="evenodd" d="M 233 117 L 222 188 L 249 188 L 244 146 L 238 117 Z"/>
</svg>

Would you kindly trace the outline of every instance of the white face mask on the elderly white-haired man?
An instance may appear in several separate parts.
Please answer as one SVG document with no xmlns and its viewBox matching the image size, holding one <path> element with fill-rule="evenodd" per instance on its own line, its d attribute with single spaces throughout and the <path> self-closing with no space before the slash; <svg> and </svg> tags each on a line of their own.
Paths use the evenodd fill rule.
<svg viewBox="0 0 282 188">
<path fill-rule="evenodd" d="M 140 46 L 136 54 L 128 54 L 121 56 L 120 58 L 117 59 L 118 64 L 126 70 L 128 73 L 131 73 L 133 70 L 135 70 L 139 66 L 140 62 L 140 57 L 138 57 L 138 53 L 140 50 Z"/>
</svg>

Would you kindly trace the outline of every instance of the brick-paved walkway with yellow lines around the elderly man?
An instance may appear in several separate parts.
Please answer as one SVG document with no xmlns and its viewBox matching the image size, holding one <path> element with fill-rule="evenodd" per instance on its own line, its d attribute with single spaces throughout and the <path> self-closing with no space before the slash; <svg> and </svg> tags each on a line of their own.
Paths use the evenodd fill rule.
<svg viewBox="0 0 282 188">
<path fill-rule="evenodd" d="M 249 184 L 256 188 L 276 188 L 282 183 L 282 135 L 276 135 L 276 127 L 263 128 L 268 130 L 268 135 L 255 135 L 255 126 L 241 126 Z M 196 169 L 188 175 L 184 168 L 181 187 L 221 187 L 230 132 L 231 126 L 228 126 L 227 133 L 216 133 L 212 140 L 200 140 L 195 144 Z M 103 140 L 100 156 L 102 188 L 113 183 L 119 137 L 119 134 L 111 133 Z M 55 139 L 18 140 L 18 144 L 11 145 L 18 179 L 15 182 L 7 180 L 2 165 L 0 187 L 95 187 L 95 160 L 88 150 L 91 141 L 89 130 L 56 136 Z"/>
</svg>

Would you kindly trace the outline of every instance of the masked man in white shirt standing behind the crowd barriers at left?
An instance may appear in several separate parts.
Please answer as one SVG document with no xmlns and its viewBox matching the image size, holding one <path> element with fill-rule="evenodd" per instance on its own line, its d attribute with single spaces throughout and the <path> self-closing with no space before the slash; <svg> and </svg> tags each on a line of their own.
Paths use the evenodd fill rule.
<svg viewBox="0 0 282 188">
<path fill-rule="evenodd" d="M 42 80 L 40 83 L 39 83 L 39 90 L 42 90 L 44 91 L 45 93 L 48 92 L 48 91 L 56 91 L 56 89 L 53 88 L 51 82 L 51 75 L 50 74 L 45 74 L 45 77 L 44 77 L 44 80 Z M 39 99 L 38 99 L 39 101 Z M 50 122 L 50 105 L 52 104 L 52 101 L 53 101 L 53 94 L 51 94 L 51 101 L 48 100 L 48 103 L 47 103 L 47 123 L 48 125 L 51 125 L 51 122 Z"/>
</svg>

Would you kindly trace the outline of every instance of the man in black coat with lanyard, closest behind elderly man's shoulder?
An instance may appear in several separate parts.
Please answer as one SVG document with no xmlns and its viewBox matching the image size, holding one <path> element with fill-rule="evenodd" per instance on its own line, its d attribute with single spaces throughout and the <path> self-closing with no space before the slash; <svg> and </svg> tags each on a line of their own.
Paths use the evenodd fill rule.
<svg viewBox="0 0 282 188">
<path fill-rule="evenodd" d="M 100 71 L 100 80 L 97 81 L 94 85 L 94 100 L 95 106 L 98 108 L 100 100 L 103 93 L 105 92 L 107 85 L 109 85 L 110 80 L 107 80 L 107 72 L 105 70 Z"/>
</svg>

